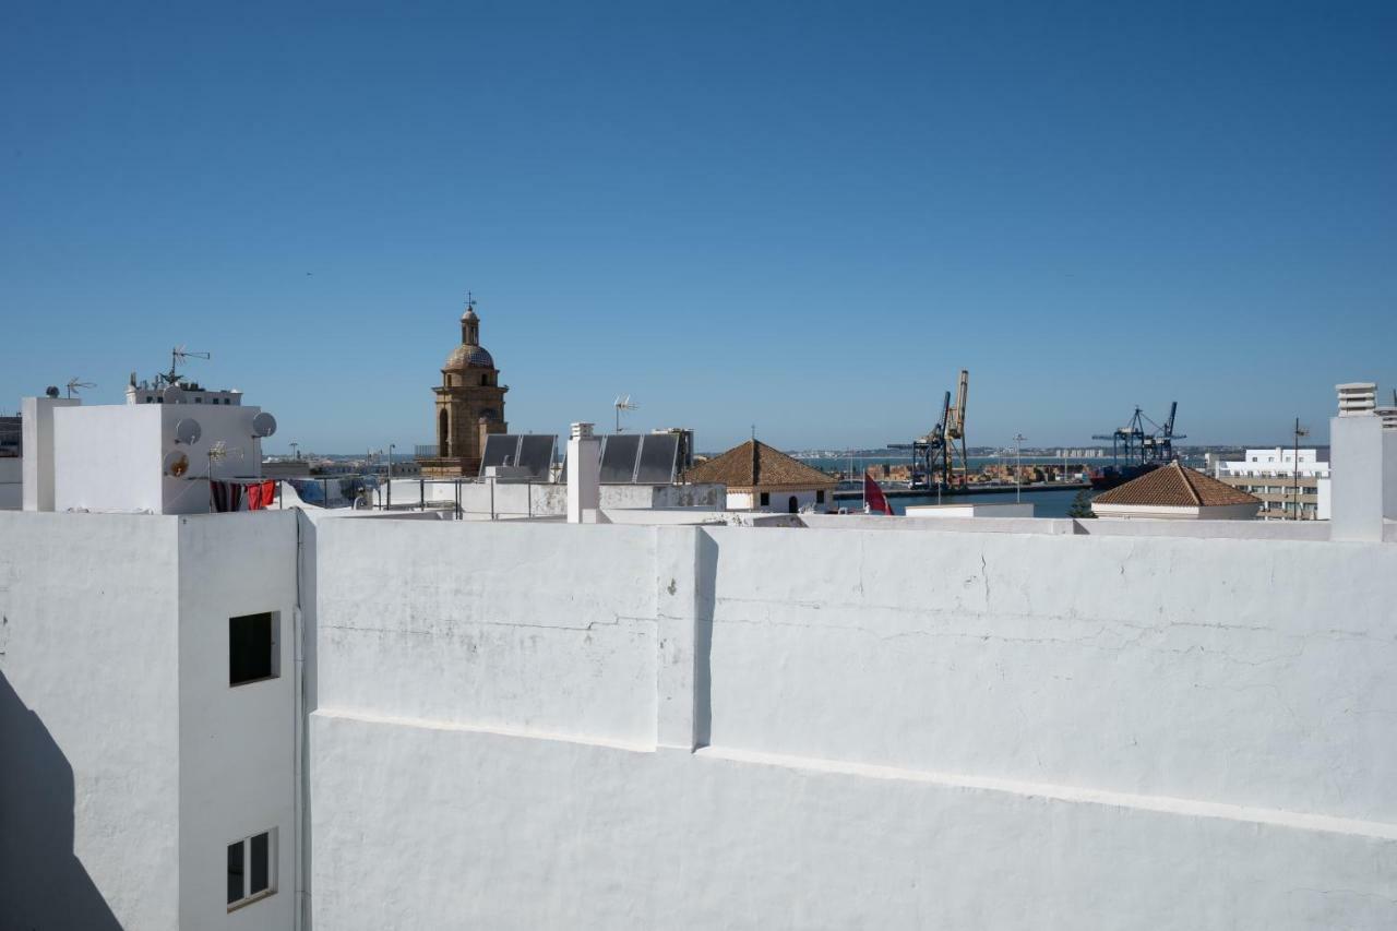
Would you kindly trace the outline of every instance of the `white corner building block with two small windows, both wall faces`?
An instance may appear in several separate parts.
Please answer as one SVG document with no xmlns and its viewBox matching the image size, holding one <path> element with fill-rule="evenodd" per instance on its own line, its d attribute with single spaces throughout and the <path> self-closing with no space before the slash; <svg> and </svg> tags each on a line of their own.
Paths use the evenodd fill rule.
<svg viewBox="0 0 1397 931">
<path fill-rule="evenodd" d="M 0 928 L 292 931 L 296 556 L 293 512 L 0 513 Z M 277 675 L 233 686 L 260 612 Z M 268 830 L 275 892 L 229 911 Z"/>
</svg>

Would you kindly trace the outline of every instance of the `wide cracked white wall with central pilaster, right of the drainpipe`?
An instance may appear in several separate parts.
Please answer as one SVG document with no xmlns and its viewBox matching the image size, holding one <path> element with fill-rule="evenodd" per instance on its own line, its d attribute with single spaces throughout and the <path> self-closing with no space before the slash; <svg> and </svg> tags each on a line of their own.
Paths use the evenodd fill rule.
<svg viewBox="0 0 1397 931">
<path fill-rule="evenodd" d="M 317 925 L 1397 925 L 1397 547 L 1000 523 L 321 523 Z"/>
</svg>

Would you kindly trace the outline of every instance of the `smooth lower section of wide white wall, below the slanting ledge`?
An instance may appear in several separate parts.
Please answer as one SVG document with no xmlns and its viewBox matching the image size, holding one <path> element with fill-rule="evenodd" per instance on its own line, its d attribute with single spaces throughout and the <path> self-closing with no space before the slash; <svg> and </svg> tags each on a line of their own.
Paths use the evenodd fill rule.
<svg viewBox="0 0 1397 931">
<path fill-rule="evenodd" d="M 1389 928 L 1390 839 L 317 714 L 319 927 Z M 384 864 L 401 864 L 386 869 Z"/>
</svg>

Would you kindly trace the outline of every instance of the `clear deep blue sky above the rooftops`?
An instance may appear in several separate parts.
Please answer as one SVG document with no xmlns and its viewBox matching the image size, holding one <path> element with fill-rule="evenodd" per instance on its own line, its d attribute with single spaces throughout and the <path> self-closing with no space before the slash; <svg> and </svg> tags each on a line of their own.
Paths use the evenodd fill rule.
<svg viewBox="0 0 1397 931">
<path fill-rule="evenodd" d="M 1397 4 L 8 3 L 0 410 L 176 342 L 270 449 L 515 431 L 972 445 L 1136 403 L 1319 439 L 1397 384 Z M 312 274 L 307 274 L 312 273 Z"/>
</svg>

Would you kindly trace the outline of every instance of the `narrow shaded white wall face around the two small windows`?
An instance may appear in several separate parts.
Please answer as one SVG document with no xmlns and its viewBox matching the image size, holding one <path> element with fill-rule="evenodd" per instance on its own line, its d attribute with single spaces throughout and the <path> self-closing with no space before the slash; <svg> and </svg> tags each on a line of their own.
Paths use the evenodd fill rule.
<svg viewBox="0 0 1397 931">
<path fill-rule="evenodd" d="M 229 408 L 236 410 L 236 408 Z M 179 519 L 180 927 L 291 928 L 296 910 L 296 514 Z M 278 678 L 229 686 L 229 618 L 279 615 Z M 277 893 L 226 909 L 228 844 L 277 829 Z"/>
</svg>

